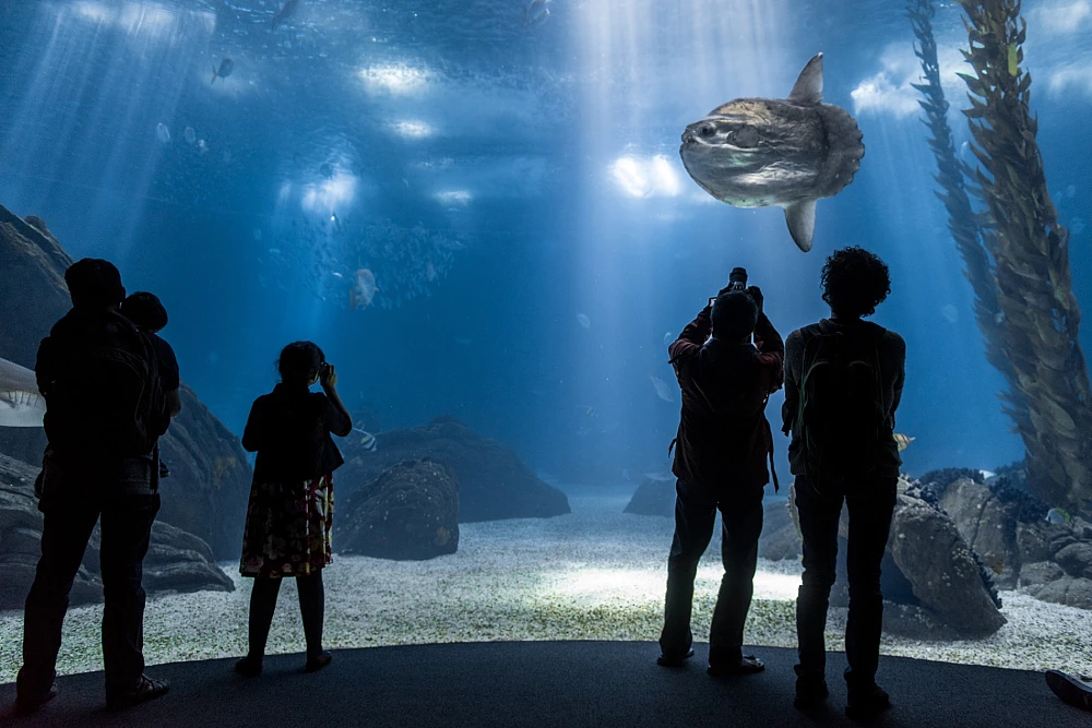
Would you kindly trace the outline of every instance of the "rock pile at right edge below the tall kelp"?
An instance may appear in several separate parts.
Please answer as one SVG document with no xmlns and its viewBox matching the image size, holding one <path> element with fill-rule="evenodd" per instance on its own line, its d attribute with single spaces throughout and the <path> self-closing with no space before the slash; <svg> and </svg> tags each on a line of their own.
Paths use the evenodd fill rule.
<svg viewBox="0 0 1092 728">
<path fill-rule="evenodd" d="M 1080 518 L 1046 520 L 1047 504 L 1007 478 L 985 480 L 966 470 L 938 470 L 923 489 L 1005 588 L 1044 601 L 1092 609 L 1092 528 Z"/>
</svg>

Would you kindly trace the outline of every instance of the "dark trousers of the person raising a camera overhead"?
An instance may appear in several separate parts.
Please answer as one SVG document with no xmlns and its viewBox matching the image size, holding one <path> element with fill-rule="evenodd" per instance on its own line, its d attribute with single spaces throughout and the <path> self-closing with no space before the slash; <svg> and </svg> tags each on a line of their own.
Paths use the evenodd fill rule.
<svg viewBox="0 0 1092 728">
<path fill-rule="evenodd" d="M 679 480 L 675 490 L 675 539 L 667 559 L 667 598 L 660 648 L 668 657 L 679 657 L 690 649 L 693 580 L 720 511 L 724 576 L 710 628 L 709 661 L 710 665 L 738 663 L 744 622 L 755 592 L 758 538 L 762 533 L 762 489 L 746 493 L 713 492 Z"/>
</svg>

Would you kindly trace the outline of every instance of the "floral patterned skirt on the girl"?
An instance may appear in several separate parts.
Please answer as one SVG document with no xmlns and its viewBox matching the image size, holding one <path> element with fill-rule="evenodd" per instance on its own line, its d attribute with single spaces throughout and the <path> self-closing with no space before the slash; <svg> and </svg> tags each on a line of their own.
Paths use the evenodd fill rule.
<svg viewBox="0 0 1092 728">
<path fill-rule="evenodd" d="M 242 532 L 244 576 L 307 576 L 333 561 L 331 474 L 307 481 L 253 482 Z"/>
</svg>

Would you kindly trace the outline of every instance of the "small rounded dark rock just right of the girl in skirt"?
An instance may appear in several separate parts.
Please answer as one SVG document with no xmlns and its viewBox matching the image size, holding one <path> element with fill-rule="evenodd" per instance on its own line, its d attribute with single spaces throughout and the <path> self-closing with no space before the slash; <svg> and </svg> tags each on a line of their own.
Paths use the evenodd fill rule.
<svg viewBox="0 0 1092 728">
<path fill-rule="evenodd" d="M 459 481 L 432 460 L 383 470 L 341 512 L 333 537 L 339 553 L 420 561 L 459 548 Z"/>
</svg>

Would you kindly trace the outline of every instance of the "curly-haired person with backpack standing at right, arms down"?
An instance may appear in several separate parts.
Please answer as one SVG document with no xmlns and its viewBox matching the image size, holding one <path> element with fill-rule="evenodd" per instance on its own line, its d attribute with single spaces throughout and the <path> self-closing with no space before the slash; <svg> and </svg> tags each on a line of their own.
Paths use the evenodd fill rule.
<svg viewBox="0 0 1092 728">
<path fill-rule="evenodd" d="M 887 265 L 860 248 L 835 251 L 822 268 L 831 317 L 794 331 L 786 343 L 784 431 L 796 476 L 804 536 L 804 583 L 796 601 L 797 707 L 827 697 L 827 607 L 838 558 L 838 523 L 850 512 L 845 628 L 846 713 L 863 717 L 890 706 L 876 684 L 883 597 L 880 561 L 899 481 L 894 413 L 902 397 L 906 345 L 862 321 L 891 293 Z"/>
</svg>

